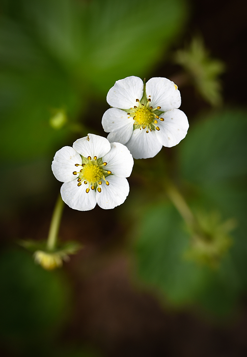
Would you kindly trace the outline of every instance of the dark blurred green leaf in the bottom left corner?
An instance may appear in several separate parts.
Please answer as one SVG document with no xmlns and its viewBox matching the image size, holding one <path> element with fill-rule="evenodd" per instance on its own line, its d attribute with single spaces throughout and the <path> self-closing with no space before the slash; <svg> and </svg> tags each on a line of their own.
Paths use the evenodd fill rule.
<svg viewBox="0 0 247 357">
<path fill-rule="evenodd" d="M 49 340 L 68 313 L 68 285 L 55 273 L 35 265 L 23 250 L 2 251 L 1 335 L 15 348 Z"/>
</svg>

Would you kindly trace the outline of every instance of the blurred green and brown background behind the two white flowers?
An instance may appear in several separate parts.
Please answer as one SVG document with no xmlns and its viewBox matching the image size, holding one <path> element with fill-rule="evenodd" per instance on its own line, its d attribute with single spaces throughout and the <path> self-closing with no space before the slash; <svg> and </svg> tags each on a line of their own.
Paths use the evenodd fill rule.
<svg viewBox="0 0 247 357">
<path fill-rule="evenodd" d="M 247 355 L 246 10 L 2 0 L 1 355 Z M 188 134 L 135 160 L 122 206 L 66 206 L 60 239 L 83 248 L 43 270 L 17 242 L 47 238 L 61 187 L 53 156 L 106 136 L 106 94 L 129 75 L 173 80 Z M 203 237 L 181 217 L 185 202 Z"/>
</svg>

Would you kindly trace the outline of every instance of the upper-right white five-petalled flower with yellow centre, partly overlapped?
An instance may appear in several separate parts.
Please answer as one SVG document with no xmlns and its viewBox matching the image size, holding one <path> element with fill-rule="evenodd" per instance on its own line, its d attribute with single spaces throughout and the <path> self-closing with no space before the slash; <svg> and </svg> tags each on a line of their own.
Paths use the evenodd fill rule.
<svg viewBox="0 0 247 357">
<path fill-rule="evenodd" d="M 110 142 L 128 147 L 134 159 L 154 157 L 162 146 L 177 145 L 187 134 L 188 120 L 179 109 L 178 87 L 167 78 L 119 80 L 108 91 L 108 109 L 102 117 Z"/>
</svg>

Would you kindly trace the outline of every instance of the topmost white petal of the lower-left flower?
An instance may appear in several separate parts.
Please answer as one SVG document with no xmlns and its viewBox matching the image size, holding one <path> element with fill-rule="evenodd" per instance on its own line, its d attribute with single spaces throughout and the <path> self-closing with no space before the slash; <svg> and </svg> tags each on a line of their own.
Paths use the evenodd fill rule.
<svg viewBox="0 0 247 357">
<path fill-rule="evenodd" d="M 79 152 L 80 155 L 87 158 L 90 156 L 93 158 L 102 158 L 109 150 L 111 150 L 111 144 L 106 138 L 99 135 L 88 134 L 88 136 L 78 139 L 73 143 L 73 148 Z"/>
</svg>

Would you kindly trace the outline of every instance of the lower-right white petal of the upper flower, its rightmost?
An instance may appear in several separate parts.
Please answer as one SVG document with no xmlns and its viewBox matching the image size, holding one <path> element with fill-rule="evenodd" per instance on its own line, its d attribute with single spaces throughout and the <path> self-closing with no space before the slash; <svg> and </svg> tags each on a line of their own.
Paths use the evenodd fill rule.
<svg viewBox="0 0 247 357">
<path fill-rule="evenodd" d="M 179 109 L 162 114 L 164 121 L 158 123 L 160 131 L 156 136 L 163 146 L 172 147 L 185 138 L 188 131 L 188 119 Z"/>
</svg>

